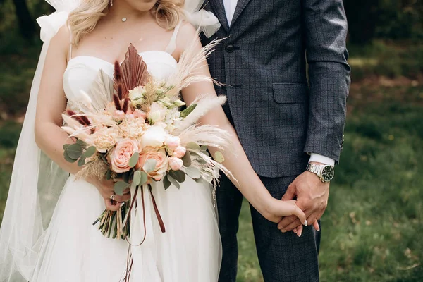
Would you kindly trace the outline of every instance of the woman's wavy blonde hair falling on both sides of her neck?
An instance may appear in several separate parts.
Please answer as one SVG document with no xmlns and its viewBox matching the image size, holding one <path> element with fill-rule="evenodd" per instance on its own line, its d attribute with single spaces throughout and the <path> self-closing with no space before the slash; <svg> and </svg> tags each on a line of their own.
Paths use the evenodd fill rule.
<svg viewBox="0 0 423 282">
<path fill-rule="evenodd" d="M 83 0 L 82 4 L 68 17 L 72 32 L 72 44 L 77 46 L 83 35 L 92 32 L 100 18 L 109 11 L 109 0 Z M 168 30 L 178 25 L 183 18 L 185 0 L 158 0 L 152 8 L 157 23 Z"/>
</svg>

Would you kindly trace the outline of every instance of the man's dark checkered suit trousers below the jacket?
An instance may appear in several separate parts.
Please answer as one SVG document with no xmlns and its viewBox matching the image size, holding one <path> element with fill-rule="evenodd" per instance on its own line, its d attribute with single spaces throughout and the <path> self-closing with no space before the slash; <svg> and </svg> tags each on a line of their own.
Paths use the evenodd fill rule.
<svg viewBox="0 0 423 282">
<path fill-rule="evenodd" d="M 276 199 L 281 199 L 295 177 L 261 177 L 261 179 L 270 194 Z M 243 195 L 226 176 L 221 176 L 216 198 L 223 245 L 219 282 L 235 282 L 238 269 L 238 217 L 243 203 Z M 281 233 L 276 223 L 266 220 L 251 205 L 250 210 L 257 255 L 264 281 L 319 281 L 317 257 L 321 231 L 317 232 L 312 226 L 307 226 L 304 227 L 300 238 L 292 231 Z"/>
</svg>

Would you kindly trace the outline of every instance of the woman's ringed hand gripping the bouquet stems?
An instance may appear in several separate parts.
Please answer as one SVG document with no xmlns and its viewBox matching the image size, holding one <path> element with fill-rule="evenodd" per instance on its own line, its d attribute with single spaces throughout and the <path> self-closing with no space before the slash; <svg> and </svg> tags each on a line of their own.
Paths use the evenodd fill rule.
<svg viewBox="0 0 423 282">
<path fill-rule="evenodd" d="M 122 196 L 115 195 L 114 200 L 111 200 L 111 195 L 114 195 L 114 184 L 116 183 L 114 180 L 91 179 L 88 182 L 99 190 L 100 195 L 104 199 L 104 204 L 106 204 L 106 209 L 110 211 L 117 211 L 121 207 L 122 202 L 130 200 L 129 189 L 123 191 Z"/>
</svg>

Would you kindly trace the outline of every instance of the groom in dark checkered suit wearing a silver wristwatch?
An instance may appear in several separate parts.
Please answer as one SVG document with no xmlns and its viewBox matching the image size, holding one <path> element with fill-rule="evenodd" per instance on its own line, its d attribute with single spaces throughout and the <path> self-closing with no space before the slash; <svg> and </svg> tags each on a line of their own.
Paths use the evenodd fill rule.
<svg viewBox="0 0 423 282">
<path fill-rule="evenodd" d="M 202 43 L 228 37 L 209 67 L 226 85 L 216 92 L 228 97 L 224 110 L 252 166 L 273 197 L 296 198 L 309 223 L 320 219 L 342 149 L 350 84 L 342 0 L 209 0 L 205 9 L 221 28 Z M 219 281 L 232 282 L 243 197 L 222 178 L 217 201 Z M 276 225 L 251 209 L 264 281 L 319 281 L 320 232 L 307 226 L 298 237 L 290 232 L 300 225 L 295 217 Z"/>
</svg>

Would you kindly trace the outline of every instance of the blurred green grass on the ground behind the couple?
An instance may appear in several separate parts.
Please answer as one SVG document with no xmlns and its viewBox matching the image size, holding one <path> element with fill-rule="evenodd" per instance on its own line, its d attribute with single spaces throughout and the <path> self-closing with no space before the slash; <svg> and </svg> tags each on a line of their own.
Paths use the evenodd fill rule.
<svg viewBox="0 0 423 282">
<path fill-rule="evenodd" d="M 412 60 L 422 53 L 417 54 L 418 47 L 407 54 L 377 44 L 350 49 L 357 75 L 348 99 L 341 165 L 322 219 L 321 281 L 423 281 L 423 59 Z M 37 47 L 19 52 L 0 50 L 0 120 L 4 113 L 8 118 L 0 121 L 0 219 L 20 131 L 16 118 L 25 112 L 37 61 L 30 55 Z M 398 77 L 398 66 L 387 54 L 400 54 L 398 73 L 407 78 L 378 76 Z M 357 82 L 367 77 L 375 79 Z M 246 203 L 238 234 L 238 281 L 262 281 Z"/>
</svg>

